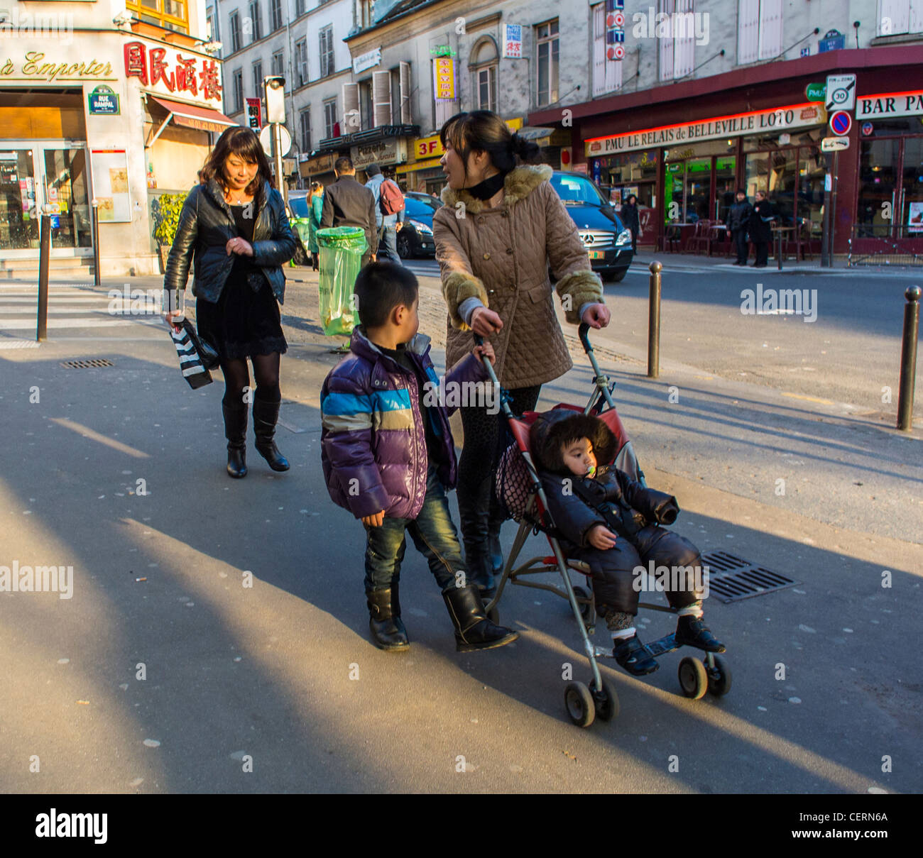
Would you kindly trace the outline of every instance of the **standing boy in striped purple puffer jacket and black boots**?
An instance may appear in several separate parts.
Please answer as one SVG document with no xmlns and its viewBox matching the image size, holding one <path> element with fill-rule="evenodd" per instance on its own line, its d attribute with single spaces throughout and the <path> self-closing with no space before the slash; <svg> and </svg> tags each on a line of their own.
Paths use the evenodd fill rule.
<svg viewBox="0 0 923 858">
<path fill-rule="evenodd" d="M 455 444 L 449 412 L 439 405 L 429 338 L 417 335 L 416 278 L 400 265 L 375 262 L 359 272 L 354 292 L 362 324 L 353 331 L 352 354 L 320 392 L 321 459 L 330 497 L 366 527 L 372 640 L 378 649 L 410 645 L 398 598 L 408 530 L 442 590 L 456 649 L 501 647 L 519 634 L 487 619 L 467 580 L 445 492 L 455 485 Z M 485 379 L 480 355 L 493 358 L 493 349 L 474 352 L 446 376 L 445 399 L 459 400 L 449 396 L 451 386 Z"/>
</svg>

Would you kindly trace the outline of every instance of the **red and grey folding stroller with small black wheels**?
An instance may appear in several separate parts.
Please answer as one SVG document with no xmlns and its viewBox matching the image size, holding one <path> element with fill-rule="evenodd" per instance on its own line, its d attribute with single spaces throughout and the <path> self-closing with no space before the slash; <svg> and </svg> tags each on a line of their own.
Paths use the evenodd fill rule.
<svg viewBox="0 0 923 858">
<path fill-rule="evenodd" d="M 615 382 L 602 374 L 593 346 L 588 337 L 590 326 L 581 324 L 580 340 L 593 365 L 593 392 L 586 407 L 559 404 L 555 408 L 569 409 L 571 411 L 590 414 L 605 421 L 609 429 L 616 435 L 618 453 L 615 466 L 625 471 L 634 480 L 644 485 L 644 474 L 638 464 L 634 448 L 631 445 L 625 427 L 618 417 L 615 403 L 612 399 L 612 390 Z M 482 338 L 475 335 L 478 344 Z M 534 411 L 526 411 L 521 417 L 516 417 L 509 409 L 509 396 L 499 387 L 497 374 L 491 362 L 485 358 L 485 367 L 495 390 L 500 390 L 500 404 L 503 414 L 509 424 L 509 432 L 514 439 L 504 452 L 497 467 L 496 491 L 497 499 L 501 506 L 506 508 L 510 518 L 519 522 L 519 530 L 509 552 L 509 557 L 503 568 L 503 574 L 497 583 L 497 592 L 494 598 L 486 605 L 487 614 L 495 623 L 498 622 L 497 603 L 503 595 L 507 582 L 521 587 L 532 587 L 536 590 L 548 590 L 566 599 L 570 603 L 574 617 L 580 629 L 583 649 L 590 660 L 593 677 L 590 685 L 581 682 L 570 682 L 564 689 L 564 704 L 568 715 L 578 727 L 589 727 L 593 720 L 611 721 L 619 710 L 618 695 L 615 686 L 601 675 L 596 660 L 599 658 L 612 658 L 612 652 L 603 647 L 594 647 L 590 641 L 596 621 L 596 608 L 593 600 L 593 588 L 590 585 L 590 566 L 579 560 L 570 560 L 564 556 L 557 539 L 557 530 L 554 521 L 548 513 L 545 491 L 542 488 L 537 469 L 533 462 L 529 447 L 529 434 L 532 423 L 538 416 Z M 603 464 L 602 462 L 600 464 Z M 605 464 L 608 464 L 607 462 Z M 530 531 L 537 534 L 544 532 L 552 553 L 549 556 L 532 557 L 520 566 L 515 566 L 516 560 L 529 537 Z M 574 585 L 570 581 L 569 570 L 575 570 L 588 578 L 587 587 Z M 564 588 L 553 584 L 537 583 L 533 580 L 524 580 L 528 576 L 539 575 L 545 572 L 559 572 Z M 664 605 L 639 602 L 639 607 L 653 611 L 663 611 L 675 614 L 676 610 Z M 677 644 L 675 633 L 664 638 L 653 640 L 645 645 L 644 649 L 652 658 L 659 658 L 668 652 L 680 648 Z M 730 691 L 731 672 L 725 659 L 712 652 L 705 653 L 703 660 L 686 657 L 679 662 L 679 685 L 686 697 L 701 699 L 706 692 L 715 697 L 722 697 Z"/>
</svg>

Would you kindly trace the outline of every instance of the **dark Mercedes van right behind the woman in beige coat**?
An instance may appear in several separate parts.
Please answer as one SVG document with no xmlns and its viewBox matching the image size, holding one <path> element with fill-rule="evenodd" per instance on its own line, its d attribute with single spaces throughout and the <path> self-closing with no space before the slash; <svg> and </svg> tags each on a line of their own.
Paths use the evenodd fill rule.
<svg viewBox="0 0 923 858">
<path fill-rule="evenodd" d="M 570 220 L 577 224 L 593 271 L 616 283 L 624 280 L 634 256 L 631 231 L 618 220 L 596 185 L 581 173 L 556 170 L 551 186 L 567 207 Z"/>
</svg>

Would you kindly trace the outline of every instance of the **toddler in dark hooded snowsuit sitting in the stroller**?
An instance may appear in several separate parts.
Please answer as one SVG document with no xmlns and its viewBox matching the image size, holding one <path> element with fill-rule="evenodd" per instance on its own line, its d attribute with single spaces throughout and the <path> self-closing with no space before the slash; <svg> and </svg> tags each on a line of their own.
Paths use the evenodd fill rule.
<svg viewBox="0 0 923 858">
<path fill-rule="evenodd" d="M 614 466 L 598 466 L 615 459 L 617 439 L 596 417 L 546 411 L 533 423 L 531 444 L 548 511 L 565 537 L 562 550 L 593 572 L 596 607 L 612 632 L 616 661 L 636 676 L 660 667 L 642 649 L 633 623 L 640 594 L 633 586 L 634 570 L 651 561 L 692 570 L 681 576 L 679 589 L 666 594 L 678 609 L 677 643 L 724 652 L 702 621 L 699 549 L 660 526 L 676 521 L 677 499 L 645 488 Z"/>
</svg>

